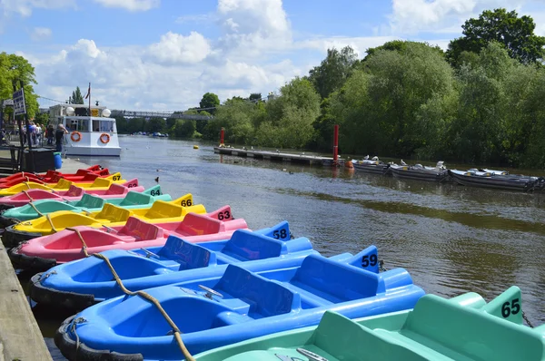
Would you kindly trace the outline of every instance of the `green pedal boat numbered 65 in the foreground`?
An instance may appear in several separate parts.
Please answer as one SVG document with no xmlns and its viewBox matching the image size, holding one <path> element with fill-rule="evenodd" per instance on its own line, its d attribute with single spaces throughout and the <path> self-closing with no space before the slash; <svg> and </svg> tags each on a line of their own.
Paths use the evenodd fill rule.
<svg viewBox="0 0 545 361">
<path fill-rule="evenodd" d="M 490 303 L 476 293 L 426 295 L 412 310 L 351 320 L 326 312 L 318 327 L 253 338 L 198 361 L 538 361 L 545 325 L 522 324 L 520 288 Z"/>
</svg>

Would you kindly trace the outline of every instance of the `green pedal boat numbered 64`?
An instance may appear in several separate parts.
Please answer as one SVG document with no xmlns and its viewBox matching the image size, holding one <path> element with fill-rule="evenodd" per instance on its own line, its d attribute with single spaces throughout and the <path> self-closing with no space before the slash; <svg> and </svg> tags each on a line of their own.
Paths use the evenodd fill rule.
<svg viewBox="0 0 545 361">
<path fill-rule="evenodd" d="M 4 213 L 2 213 L 2 218 L 4 220 L 14 220 L 9 223 L 13 224 L 16 220 L 35 220 L 45 214 L 59 210 L 72 210 L 76 213 L 93 213 L 102 210 L 106 203 L 114 204 L 117 207 L 127 210 L 132 210 L 134 208 L 151 208 L 155 200 L 169 201 L 172 200 L 172 198 L 168 194 L 163 194 L 159 185 L 144 190 L 143 192 L 129 191 L 122 198 L 104 199 L 100 196 L 85 193 L 81 200 L 66 202 L 58 200 L 35 200 L 24 206 L 5 210 Z M 4 223 L 9 225 L 7 221 L 4 221 Z"/>
</svg>

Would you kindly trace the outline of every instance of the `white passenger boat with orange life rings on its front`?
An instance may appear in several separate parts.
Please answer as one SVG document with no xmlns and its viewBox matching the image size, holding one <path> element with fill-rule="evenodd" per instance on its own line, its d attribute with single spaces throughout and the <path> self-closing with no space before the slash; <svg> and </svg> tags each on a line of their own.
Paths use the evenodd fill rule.
<svg viewBox="0 0 545 361">
<path fill-rule="evenodd" d="M 68 131 L 63 144 L 67 155 L 119 157 L 117 127 L 110 114 L 104 106 L 58 104 L 49 108 L 49 123 L 56 130 L 61 122 Z"/>
</svg>

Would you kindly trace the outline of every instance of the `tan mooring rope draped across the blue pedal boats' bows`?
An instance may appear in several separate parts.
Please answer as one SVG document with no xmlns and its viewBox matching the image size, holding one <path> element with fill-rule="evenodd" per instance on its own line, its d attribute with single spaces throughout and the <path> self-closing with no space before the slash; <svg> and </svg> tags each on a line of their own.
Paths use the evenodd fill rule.
<svg viewBox="0 0 545 361">
<path fill-rule="evenodd" d="M 115 282 L 117 283 L 117 285 L 119 286 L 119 288 L 121 288 L 121 290 L 124 292 L 125 295 L 129 295 L 129 296 L 140 296 L 141 298 L 144 298 L 148 301 L 150 301 L 151 303 L 154 304 L 155 307 L 157 307 L 159 309 L 159 312 L 161 312 L 161 315 L 163 315 L 164 319 L 166 320 L 166 322 L 169 324 L 170 327 L 172 327 L 173 329 L 173 333 L 174 333 L 174 337 L 176 339 L 176 342 L 178 343 L 178 346 L 180 347 L 180 350 L 182 351 L 182 354 L 183 356 L 185 357 L 185 359 L 187 361 L 194 361 L 195 359 L 193 358 L 193 356 L 189 353 L 189 350 L 187 349 L 187 347 L 183 344 L 183 340 L 182 340 L 182 332 L 180 331 L 180 329 L 176 326 L 176 324 L 174 323 L 173 319 L 168 316 L 168 314 L 166 313 L 166 311 L 164 310 L 163 306 L 161 306 L 161 303 L 156 299 L 154 298 L 153 296 L 145 293 L 144 291 L 131 291 L 127 288 L 124 287 L 124 284 L 123 284 L 123 281 L 121 280 L 121 278 L 119 278 L 119 275 L 117 274 L 117 272 L 115 271 L 115 268 L 114 266 L 112 265 L 112 263 L 110 262 L 110 259 L 108 259 L 106 256 L 104 256 L 103 254 L 101 253 L 94 253 L 92 255 L 90 255 L 88 252 L 87 252 L 87 243 L 85 242 L 84 240 L 84 237 L 82 236 L 81 232 L 79 231 L 79 229 L 74 229 L 74 228 L 71 228 L 71 227 L 67 227 L 66 229 L 68 230 L 72 230 L 74 231 L 77 236 L 79 237 L 79 239 L 81 240 L 82 242 L 82 250 L 84 251 L 84 255 L 85 257 L 90 257 L 90 256 L 94 256 L 96 257 L 97 259 L 102 259 L 104 260 L 104 262 L 106 262 L 106 265 L 108 266 L 108 268 L 110 268 L 110 272 L 112 272 L 112 275 L 114 276 L 115 278 Z M 75 327 L 74 327 L 74 334 L 75 334 Z M 77 337 L 77 334 L 76 335 L 76 338 L 77 339 L 77 344 L 76 344 L 76 351 L 77 351 L 77 346 L 79 344 L 79 337 Z"/>
</svg>

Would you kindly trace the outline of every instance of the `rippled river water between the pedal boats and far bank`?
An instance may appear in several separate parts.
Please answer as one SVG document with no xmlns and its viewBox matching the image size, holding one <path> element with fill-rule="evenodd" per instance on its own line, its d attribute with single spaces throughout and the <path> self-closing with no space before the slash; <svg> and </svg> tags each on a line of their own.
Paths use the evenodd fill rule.
<svg viewBox="0 0 545 361">
<path fill-rule="evenodd" d="M 251 229 L 288 220 L 323 255 L 379 249 L 386 268 L 406 268 L 426 292 L 453 297 L 475 291 L 490 300 L 522 289 L 530 321 L 545 321 L 545 193 L 466 188 L 399 180 L 348 169 L 258 161 L 213 153 L 195 142 L 120 137 L 121 158 L 80 158 L 138 178 L 155 178 L 173 198 L 192 193 L 206 210 L 231 205 Z M 466 168 L 470 168 L 467 167 Z M 64 317 L 35 307 L 54 359 L 51 337 Z"/>
</svg>

